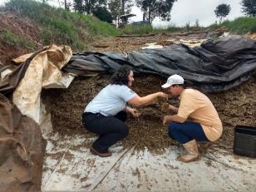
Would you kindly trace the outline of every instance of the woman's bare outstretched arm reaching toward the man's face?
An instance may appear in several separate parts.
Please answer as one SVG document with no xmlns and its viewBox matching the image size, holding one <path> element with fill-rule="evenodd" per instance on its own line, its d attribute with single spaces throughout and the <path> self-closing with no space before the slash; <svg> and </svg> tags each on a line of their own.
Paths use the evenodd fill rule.
<svg viewBox="0 0 256 192">
<path fill-rule="evenodd" d="M 134 96 L 132 99 L 130 99 L 129 101 L 127 101 L 128 103 L 130 103 L 133 106 L 143 106 L 145 104 L 150 103 L 151 101 L 155 100 L 157 97 L 163 97 L 163 98 L 167 98 L 168 95 L 165 94 L 164 92 L 156 92 L 147 96 Z"/>
</svg>

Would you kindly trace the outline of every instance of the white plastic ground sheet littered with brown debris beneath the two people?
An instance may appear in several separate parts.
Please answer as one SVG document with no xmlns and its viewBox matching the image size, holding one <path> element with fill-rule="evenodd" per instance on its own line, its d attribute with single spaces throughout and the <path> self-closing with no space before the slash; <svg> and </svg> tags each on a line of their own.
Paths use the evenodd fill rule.
<svg viewBox="0 0 256 192">
<path fill-rule="evenodd" d="M 161 155 L 135 147 L 111 147 L 113 155 L 91 155 L 96 138 L 51 135 L 47 140 L 42 191 L 256 191 L 256 159 L 233 155 L 214 145 L 201 160 L 188 164 L 170 146 Z"/>
</svg>

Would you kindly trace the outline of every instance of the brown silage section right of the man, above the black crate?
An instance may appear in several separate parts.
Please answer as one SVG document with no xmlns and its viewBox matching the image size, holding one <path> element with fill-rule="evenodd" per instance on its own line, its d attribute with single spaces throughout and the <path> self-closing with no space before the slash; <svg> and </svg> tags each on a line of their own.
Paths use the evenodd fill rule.
<svg viewBox="0 0 256 192">
<path fill-rule="evenodd" d="M 232 146 L 235 126 L 256 127 L 256 76 L 229 91 L 209 95 L 223 122 L 224 133 L 218 143 Z"/>
</svg>

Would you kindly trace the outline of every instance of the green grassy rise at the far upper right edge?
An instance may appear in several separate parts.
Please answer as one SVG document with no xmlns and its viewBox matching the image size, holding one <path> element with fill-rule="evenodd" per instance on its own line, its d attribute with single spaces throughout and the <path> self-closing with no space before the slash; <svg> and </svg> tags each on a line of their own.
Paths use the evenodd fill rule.
<svg viewBox="0 0 256 192">
<path fill-rule="evenodd" d="M 214 24 L 209 28 L 227 27 L 229 32 L 234 34 L 245 34 L 247 32 L 256 32 L 256 18 L 255 17 L 239 17 L 232 22 L 225 21 L 221 24 Z"/>
</svg>

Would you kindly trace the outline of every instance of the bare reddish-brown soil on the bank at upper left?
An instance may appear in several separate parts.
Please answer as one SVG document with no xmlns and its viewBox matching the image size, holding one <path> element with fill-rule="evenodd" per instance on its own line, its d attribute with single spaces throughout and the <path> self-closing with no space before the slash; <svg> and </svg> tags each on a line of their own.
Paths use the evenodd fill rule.
<svg viewBox="0 0 256 192">
<path fill-rule="evenodd" d="M 35 48 L 41 47 L 39 32 L 40 29 L 29 19 L 24 19 L 14 12 L 0 12 L 0 62 L 9 64 L 13 58 L 32 52 L 31 47 L 18 47 L 12 43 L 12 39 L 7 43 L 2 41 L 5 32 L 12 32 L 15 36 L 35 43 Z"/>
</svg>

